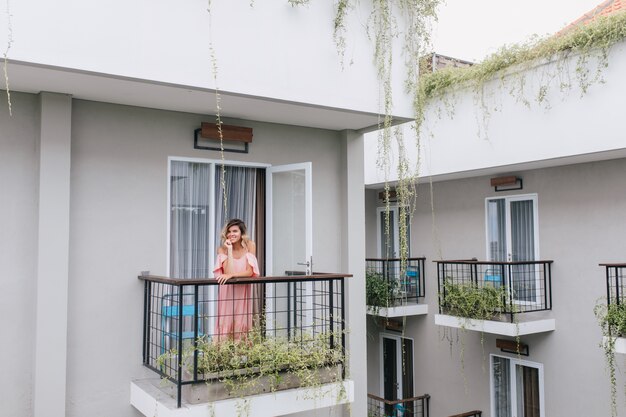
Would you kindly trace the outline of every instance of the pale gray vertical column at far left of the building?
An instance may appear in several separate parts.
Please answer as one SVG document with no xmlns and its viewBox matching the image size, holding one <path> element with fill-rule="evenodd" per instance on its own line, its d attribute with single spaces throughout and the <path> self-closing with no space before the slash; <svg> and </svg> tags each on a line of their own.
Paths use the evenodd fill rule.
<svg viewBox="0 0 626 417">
<path fill-rule="evenodd" d="M 72 98 L 40 94 L 35 417 L 65 417 Z"/>
</svg>

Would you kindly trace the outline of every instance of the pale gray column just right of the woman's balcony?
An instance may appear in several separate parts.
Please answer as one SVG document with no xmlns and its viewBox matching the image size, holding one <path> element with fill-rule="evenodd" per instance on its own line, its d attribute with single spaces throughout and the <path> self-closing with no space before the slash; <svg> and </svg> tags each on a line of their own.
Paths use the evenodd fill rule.
<svg viewBox="0 0 626 417">
<path fill-rule="evenodd" d="M 342 272 L 354 276 L 347 279 L 347 321 L 350 330 L 350 378 L 354 380 L 353 416 L 367 415 L 367 327 L 365 310 L 365 178 L 363 135 L 345 131 L 343 137 L 343 160 L 345 179 L 343 183 L 342 223 L 343 241 Z"/>
</svg>

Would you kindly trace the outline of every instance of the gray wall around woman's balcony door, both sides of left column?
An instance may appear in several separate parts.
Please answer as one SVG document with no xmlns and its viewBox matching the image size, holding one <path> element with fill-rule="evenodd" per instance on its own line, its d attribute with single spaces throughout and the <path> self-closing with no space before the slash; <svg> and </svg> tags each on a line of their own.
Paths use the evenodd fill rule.
<svg viewBox="0 0 626 417">
<path fill-rule="evenodd" d="M 0 303 L 5 363 L 2 414 L 30 416 L 35 344 L 37 96 L 13 95 L 0 112 Z M 0 105 L 4 105 L 1 104 Z M 72 105 L 67 416 L 137 416 L 130 381 L 141 366 L 142 270 L 167 274 L 167 158 L 219 159 L 193 149 L 193 131 L 213 117 L 74 100 Z M 339 216 L 345 181 L 340 132 L 224 120 L 254 129 L 250 153 L 229 160 L 313 163 L 316 270 L 339 271 L 346 238 Z M 5 266 L 6 265 L 6 266 Z M 347 271 L 346 271 L 347 272 Z M 10 317 L 11 319 L 7 319 Z M 3 395 L 5 398 L 5 395 Z"/>
</svg>

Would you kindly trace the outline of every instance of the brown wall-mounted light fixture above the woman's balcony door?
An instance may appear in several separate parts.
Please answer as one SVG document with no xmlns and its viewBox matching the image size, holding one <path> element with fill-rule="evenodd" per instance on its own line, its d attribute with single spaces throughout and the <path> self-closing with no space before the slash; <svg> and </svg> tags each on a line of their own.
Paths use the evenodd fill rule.
<svg viewBox="0 0 626 417">
<path fill-rule="evenodd" d="M 252 143 L 252 128 L 222 124 L 222 139 L 228 143 L 224 152 L 248 153 L 248 145 Z M 217 145 L 215 142 L 217 141 Z M 194 131 L 193 147 L 220 151 L 220 132 L 215 123 L 202 122 L 201 128 Z"/>
</svg>

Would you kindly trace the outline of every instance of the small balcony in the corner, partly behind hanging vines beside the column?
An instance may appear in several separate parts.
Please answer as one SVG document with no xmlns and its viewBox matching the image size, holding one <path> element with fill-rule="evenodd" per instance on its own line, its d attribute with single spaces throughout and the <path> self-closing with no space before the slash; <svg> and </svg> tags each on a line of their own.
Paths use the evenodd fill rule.
<svg viewBox="0 0 626 417">
<path fill-rule="evenodd" d="M 428 314 L 424 299 L 425 258 L 365 259 L 368 314 L 403 317 Z"/>
</svg>

